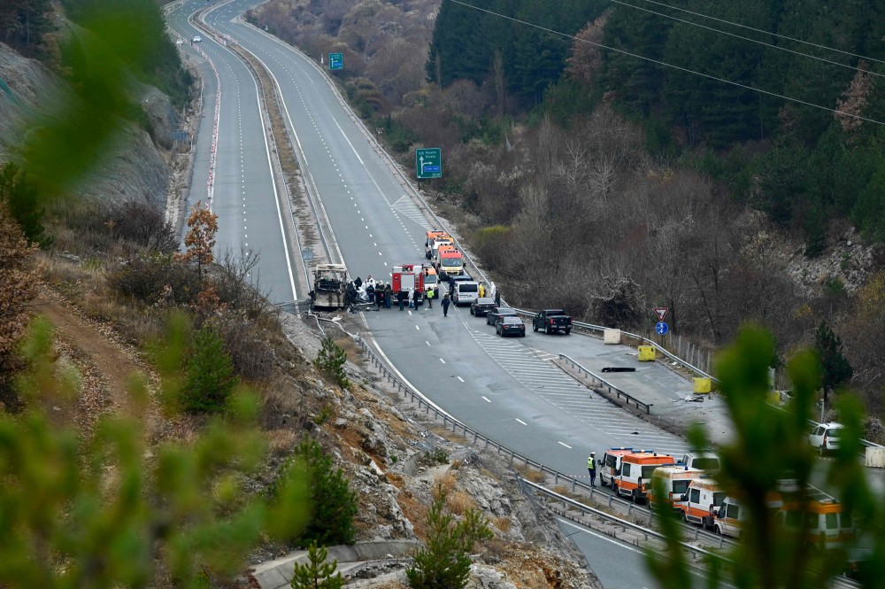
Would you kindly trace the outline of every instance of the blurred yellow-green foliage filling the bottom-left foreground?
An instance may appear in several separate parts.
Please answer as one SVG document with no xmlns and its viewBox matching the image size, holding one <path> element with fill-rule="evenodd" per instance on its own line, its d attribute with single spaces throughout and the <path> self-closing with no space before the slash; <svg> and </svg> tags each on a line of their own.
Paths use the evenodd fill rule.
<svg viewBox="0 0 885 589">
<path fill-rule="evenodd" d="M 173 329 L 158 354 L 165 388 L 181 381 L 183 333 Z M 302 469 L 289 469 L 273 501 L 242 490 L 265 455 L 253 395 L 238 395 L 227 420 L 209 422 L 191 443 L 149 453 L 143 379 L 131 385 L 134 416 L 100 418 L 90 434 L 43 408 L 79 393 L 78 376 L 54 360 L 48 322 L 37 322 L 23 353 L 29 410 L 0 415 L 0 586 L 203 587 L 205 577 L 242 570 L 266 536 L 303 523 Z"/>
</svg>

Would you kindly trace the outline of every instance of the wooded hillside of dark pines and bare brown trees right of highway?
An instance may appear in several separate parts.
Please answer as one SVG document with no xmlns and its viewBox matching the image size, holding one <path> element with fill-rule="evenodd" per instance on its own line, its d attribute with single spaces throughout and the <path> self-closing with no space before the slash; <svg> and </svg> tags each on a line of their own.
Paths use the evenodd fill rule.
<svg viewBox="0 0 885 589">
<path fill-rule="evenodd" d="M 428 196 L 508 301 L 639 330 L 668 306 L 705 350 L 758 321 L 779 358 L 826 322 L 880 409 L 863 317 L 885 240 L 881 7 L 468 4 L 277 0 L 250 19 L 344 52 L 339 81 L 405 169 L 443 149 Z M 380 74 L 395 43 L 404 77 Z M 390 91 L 416 56 L 420 80 Z"/>
</svg>

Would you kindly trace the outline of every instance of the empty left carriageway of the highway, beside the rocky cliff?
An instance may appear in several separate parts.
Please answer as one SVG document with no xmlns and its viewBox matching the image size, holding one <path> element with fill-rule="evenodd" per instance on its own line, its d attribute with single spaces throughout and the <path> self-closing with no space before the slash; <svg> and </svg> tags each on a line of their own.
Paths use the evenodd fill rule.
<svg viewBox="0 0 885 589">
<path fill-rule="evenodd" d="M 273 302 L 297 298 L 292 261 L 297 260 L 289 236 L 281 230 L 281 213 L 288 205 L 281 202 L 273 182 L 269 148 L 258 103 L 258 87 L 248 68 L 211 35 L 193 27 L 189 15 L 200 3 L 173 7 L 166 21 L 184 40 L 182 47 L 196 61 L 204 81 L 204 117 L 196 141 L 196 156 L 188 209 L 201 201 L 211 204 L 219 215 L 216 256 L 226 252 L 258 253 L 260 262 L 250 275 L 252 283 Z M 219 74 L 221 101 L 214 168 L 214 182 L 208 186 L 212 149 L 213 118 L 218 82 L 209 63 L 190 40 L 203 37 L 198 45 L 212 59 Z M 289 213 L 290 214 L 290 213 Z M 186 229 L 187 230 L 187 229 Z M 300 254 L 299 254 L 300 255 Z"/>
</svg>

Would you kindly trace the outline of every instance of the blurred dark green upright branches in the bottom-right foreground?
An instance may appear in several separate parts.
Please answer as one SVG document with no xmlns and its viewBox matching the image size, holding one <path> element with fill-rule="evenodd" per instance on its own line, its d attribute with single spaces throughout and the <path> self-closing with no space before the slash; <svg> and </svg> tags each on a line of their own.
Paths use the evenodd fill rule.
<svg viewBox="0 0 885 589">
<path fill-rule="evenodd" d="M 846 426 L 841 447 L 830 461 L 820 461 L 808 445 L 808 420 L 820 389 L 820 371 L 812 352 L 800 353 L 789 363 L 793 383 L 792 399 L 786 410 L 766 404 L 767 368 L 773 357 L 773 341 L 761 329 L 743 329 L 735 345 L 727 349 L 718 364 L 721 391 L 735 425 L 735 440 L 718 448 L 720 486 L 741 504 L 749 515 L 739 545 L 729 554 L 716 556 L 711 567 L 709 587 L 766 587 L 814 589 L 831 585 L 835 575 L 848 569 L 856 542 L 822 550 L 808 538 L 808 522 L 797 531 L 778 523 L 776 511 L 766 502 L 778 492 L 779 480 L 795 479 L 798 491 L 784 494 L 806 511 L 811 491 L 808 484 L 822 486 L 843 503 L 843 513 L 851 515 L 856 534 L 872 547 L 864 586 L 885 582 L 885 506 L 866 482 L 864 467 L 858 461 L 861 411 L 856 399 L 844 395 L 837 407 Z M 710 447 L 702 430 L 693 430 L 689 439 L 696 449 Z M 824 473 L 821 475 L 820 473 Z M 819 480 L 825 478 L 825 480 Z M 663 488 L 656 492 L 663 492 Z M 666 493 L 665 493 L 666 495 Z M 803 507 L 805 506 L 805 507 Z M 681 527 L 669 510 L 661 518 L 667 549 L 648 554 L 650 570 L 661 586 L 683 589 L 691 585 L 689 559 L 680 546 Z"/>
</svg>

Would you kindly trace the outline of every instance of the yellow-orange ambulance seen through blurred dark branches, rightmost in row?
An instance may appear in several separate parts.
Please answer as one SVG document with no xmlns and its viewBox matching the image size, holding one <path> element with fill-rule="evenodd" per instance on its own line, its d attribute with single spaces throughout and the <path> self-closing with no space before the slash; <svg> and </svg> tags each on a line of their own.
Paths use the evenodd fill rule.
<svg viewBox="0 0 885 589">
<path fill-rule="evenodd" d="M 806 508 L 795 502 L 785 503 L 778 520 L 789 531 L 803 530 L 810 542 L 822 549 L 839 548 L 854 538 L 851 515 L 835 499 L 810 500 Z"/>
</svg>

